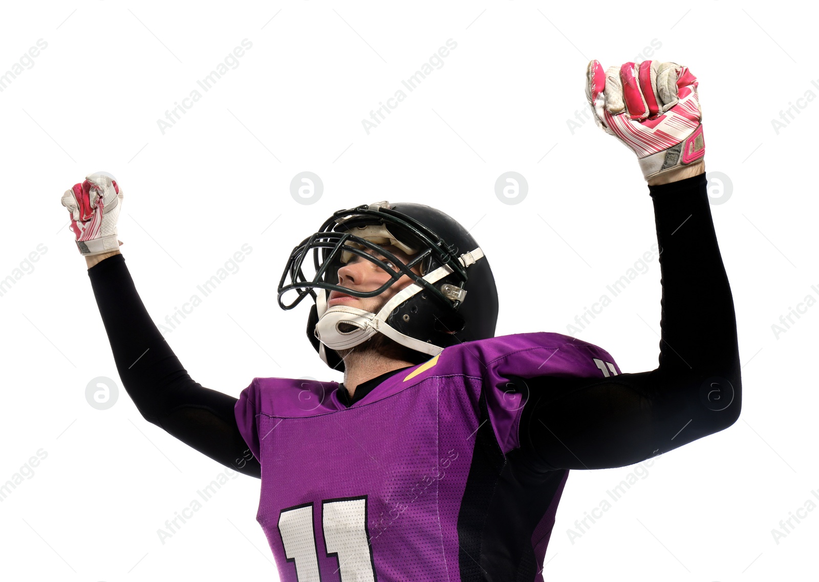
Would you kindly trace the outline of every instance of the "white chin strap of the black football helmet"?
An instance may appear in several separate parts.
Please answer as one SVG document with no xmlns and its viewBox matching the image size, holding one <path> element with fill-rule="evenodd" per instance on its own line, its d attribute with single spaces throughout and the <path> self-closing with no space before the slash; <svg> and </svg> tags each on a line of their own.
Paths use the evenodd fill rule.
<svg viewBox="0 0 819 582">
<path fill-rule="evenodd" d="M 480 247 L 471 252 L 464 252 L 458 260 L 461 265 L 468 267 L 473 265 L 478 259 L 483 257 L 483 251 Z M 452 272 L 450 266 L 440 266 L 435 271 L 429 272 L 423 276 L 423 280 L 434 284 L 437 281 L 446 277 Z M 409 337 L 409 335 L 401 334 L 395 328 L 387 325 L 387 317 L 392 311 L 401 303 L 412 297 L 415 293 L 419 293 L 423 288 L 417 283 L 411 283 L 399 293 L 396 293 L 378 313 L 364 311 L 358 307 L 350 307 L 346 305 L 334 305 L 327 307 L 327 290 L 320 289 L 318 298 L 316 299 L 316 310 L 319 315 L 319 323 L 315 325 L 315 336 L 319 339 L 321 345 L 319 346 L 319 356 L 324 363 L 327 361 L 327 353 L 324 346 L 334 350 L 353 348 L 360 343 L 367 341 L 373 334 L 380 332 L 388 338 L 395 340 L 407 348 L 413 349 L 416 352 L 427 353 L 430 356 L 437 356 L 444 348 L 434 345 L 432 343 L 423 342 L 420 339 Z M 464 292 L 465 293 L 465 292 Z M 356 330 L 343 332 L 338 329 L 338 325 L 348 323 L 355 326 Z"/>
</svg>

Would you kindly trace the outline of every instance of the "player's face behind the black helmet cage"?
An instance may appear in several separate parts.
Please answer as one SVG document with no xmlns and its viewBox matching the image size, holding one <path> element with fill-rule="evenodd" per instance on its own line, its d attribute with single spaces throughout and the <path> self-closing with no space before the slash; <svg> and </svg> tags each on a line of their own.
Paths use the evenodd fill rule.
<svg viewBox="0 0 819 582">
<path fill-rule="evenodd" d="M 384 248 L 398 257 L 401 261 L 404 261 L 405 264 L 412 260 L 411 255 L 405 254 L 404 252 L 400 251 L 399 248 L 390 245 L 387 245 Z M 387 262 L 387 265 L 393 267 L 391 262 L 387 260 L 387 257 L 383 257 L 377 252 L 373 252 L 369 249 L 367 253 Z M 397 266 L 395 266 L 395 268 L 397 271 Z M 412 270 L 418 275 L 421 274 L 420 266 L 418 265 L 414 266 Z M 382 284 L 386 283 L 388 280 L 390 280 L 390 275 L 387 275 L 386 271 L 375 263 L 368 261 L 364 257 L 359 257 L 358 255 L 353 255 L 351 259 L 346 262 L 346 265 L 342 266 L 342 268 L 338 270 L 338 284 L 346 289 L 354 289 L 355 291 L 373 291 L 381 287 Z M 338 293 L 333 292 L 330 294 L 328 307 L 333 307 L 334 305 L 351 305 L 352 307 L 358 307 L 359 309 L 364 309 L 365 311 L 377 313 L 378 310 L 380 310 L 381 307 L 383 307 L 384 304 L 390 300 L 390 298 L 412 282 L 413 281 L 407 275 L 401 275 L 399 280 L 396 280 L 396 282 L 391 284 L 390 287 L 382 291 L 380 295 L 368 298 L 337 297 Z"/>
</svg>

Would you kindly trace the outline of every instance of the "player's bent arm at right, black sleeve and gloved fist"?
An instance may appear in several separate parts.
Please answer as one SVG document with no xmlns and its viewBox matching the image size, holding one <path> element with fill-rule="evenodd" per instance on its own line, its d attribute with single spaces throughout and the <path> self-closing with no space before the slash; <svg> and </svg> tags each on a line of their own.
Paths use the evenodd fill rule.
<svg viewBox="0 0 819 582">
<path fill-rule="evenodd" d="M 518 378 L 529 393 L 521 448 L 548 469 L 640 462 L 731 426 L 741 407 L 734 304 L 708 202 L 696 78 L 657 61 L 604 75 L 592 61 L 588 80 L 598 125 L 640 157 L 654 203 L 659 366 L 605 379 Z"/>
</svg>

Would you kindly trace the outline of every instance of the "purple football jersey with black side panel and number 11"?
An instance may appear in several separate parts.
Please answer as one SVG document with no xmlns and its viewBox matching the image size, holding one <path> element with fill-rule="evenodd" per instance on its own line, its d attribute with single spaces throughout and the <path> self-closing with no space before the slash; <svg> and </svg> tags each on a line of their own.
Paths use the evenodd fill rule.
<svg viewBox="0 0 819 582">
<path fill-rule="evenodd" d="M 281 580 L 542 580 L 568 471 L 512 475 L 527 395 L 509 375 L 619 373 L 594 345 L 531 333 L 445 348 L 350 407 L 337 382 L 254 378 L 236 419 Z"/>
</svg>

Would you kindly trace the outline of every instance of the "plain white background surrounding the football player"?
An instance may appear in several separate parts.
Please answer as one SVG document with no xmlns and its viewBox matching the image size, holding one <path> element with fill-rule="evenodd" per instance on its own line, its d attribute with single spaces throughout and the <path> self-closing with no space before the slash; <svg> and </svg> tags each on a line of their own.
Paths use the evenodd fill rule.
<svg viewBox="0 0 819 582">
<path fill-rule="evenodd" d="M 778 134 L 771 124 L 808 90 L 819 95 L 817 15 L 804 6 L 4 5 L 0 71 L 48 43 L 0 93 L 0 278 L 20 275 L 30 252 L 39 257 L 0 297 L 0 483 L 48 453 L 0 502 L 4 574 L 276 580 L 255 520 L 259 480 L 234 474 L 162 544 L 165 520 L 224 467 L 144 421 L 121 385 L 106 411 L 86 402 L 90 380 L 119 376 L 60 203 L 72 184 L 99 170 L 122 184 L 122 252 L 157 324 L 251 246 L 167 335 L 194 380 L 233 396 L 256 376 L 341 380 L 305 338 L 307 302 L 280 310 L 276 285 L 292 247 L 333 211 L 383 199 L 438 207 L 472 229 L 498 284 L 498 335 L 567 333 L 656 242 L 636 157 L 591 120 L 568 124 L 585 115 L 590 59 L 638 57 L 685 64 L 700 81 L 707 171 L 727 176 L 710 188 L 731 191 L 711 210 L 739 324 L 744 407 L 731 428 L 658 457 L 574 543 L 568 528 L 633 469 L 572 471 L 544 575 L 807 580 L 819 511 L 780 543 L 771 534 L 819 490 L 810 371 L 819 307 L 778 338 L 771 330 L 808 294 L 819 298 L 819 103 L 799 102 Z M 238 67 L 202 91 L 197 80 L 242 39 L 252 48 Z M 457 48 L 444 65 L 367 134 L 362 120 L 447 39 Z M 645 53 L 652 40 L 661 48 Z M 193 89 L 201 100 L 163 134 L 157 120 Z M 291 196 L 301 171 L 323 180 L 314 204 Z M 528 182 L 516 205 L 495 197 L 506 171 Z M 661 288 L 656 259 L 648 266 L 578 335 L 622 371 L 658 363 Z"/>
</svg>

